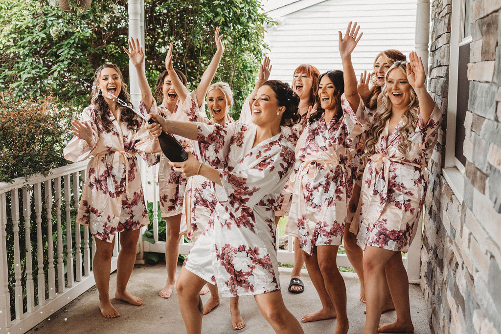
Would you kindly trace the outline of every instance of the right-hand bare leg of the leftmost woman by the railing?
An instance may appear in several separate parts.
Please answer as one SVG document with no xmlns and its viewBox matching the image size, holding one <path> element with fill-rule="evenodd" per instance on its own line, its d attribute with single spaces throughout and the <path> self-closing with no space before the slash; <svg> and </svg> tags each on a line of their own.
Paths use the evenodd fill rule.
<svg viewBox="0 0 501 334">
<path fill-rule="evenodd" d="M 140 306 L 143 300 L 127 292 L 127 283 L 129 282 L 134 262 L 136 262 L 137 240 L 141 230 L 120 232 L 120 252 L 117 262 L 117 289 L 115 298 L 127 301 L 129 304 Z"/>
</svg>

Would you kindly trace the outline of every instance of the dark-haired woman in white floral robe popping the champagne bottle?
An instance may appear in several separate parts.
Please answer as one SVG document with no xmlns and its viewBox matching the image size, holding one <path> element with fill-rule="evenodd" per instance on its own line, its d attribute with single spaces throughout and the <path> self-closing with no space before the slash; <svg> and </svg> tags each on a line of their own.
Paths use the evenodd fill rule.
<svg viewBox="0 0 501 334">
<path fill-rule="evenodd" d="M 223 295 L 255 295 L 277 332 L 303 332 L 280 292 L 273 210 L 294 164 L 292 145 L 280 125 L 299 121 L 299 99 L 278 81 L 267 82 L 258 96 L 251 126 L 176 123 L 152 116 L 164 130 L 198 140 L 202 162 L 190 155 L 186 162 L 171 164 L 185 175 L 212 180 L 218 199 L 176 284 L 188 332 L 201 332 L 196 305 L 201 307 L 198 290 L 206 281 L 216 281 Z M 158 127 L 150 131 L 159 133 Z"/>
</svg>

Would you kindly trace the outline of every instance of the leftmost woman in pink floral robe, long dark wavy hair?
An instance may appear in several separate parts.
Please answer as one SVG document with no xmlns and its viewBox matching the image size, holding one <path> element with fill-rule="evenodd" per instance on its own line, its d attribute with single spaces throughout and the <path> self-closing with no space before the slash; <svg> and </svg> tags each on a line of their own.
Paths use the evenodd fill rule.
<svg viewBox="0 0 501 334">
<path fill-rule="evenodd" d="M 144 72 L 143 72 L 144 76 Z M 94 278 L 99 291 L 99 308 L 111 318 L 120 313 L 110 302 L 108 286 L 116 232 L 120 234 L 115 298 L 133 305 L 142 300 L 126 291 L 134 267 L 140 227 L 149 223 L 143 198 L 136 154 L 147 163 L 156 163 L 154 147 L 145 122 L 131 109 L 127 86 L 116 65 L 105 64 L 94 74 L 92 105 L 80 121 L 74 120 L 75 136 L 64 149 L 64 157 L 83 161 L 89 157 L 87 178 L 77 213 L 77 223 L 89 226 L 97 250 L 93 259 Z M 116 98 L 130 107 L 117 105 Z M 144 104 L 140 112 L 147 115 Z"/>
</svg>

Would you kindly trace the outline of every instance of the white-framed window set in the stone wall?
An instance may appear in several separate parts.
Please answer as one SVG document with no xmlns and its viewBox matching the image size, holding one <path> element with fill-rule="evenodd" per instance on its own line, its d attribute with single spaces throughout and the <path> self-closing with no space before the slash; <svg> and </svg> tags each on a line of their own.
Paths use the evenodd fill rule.
<svg viewBox="0 0 501 334">
<path fill-rule="evenodd" d="M 454 194 L 462 198 L 466 158 L 464 120 L 468 108 L 471 5 L 474 0 L 452 2 L 447 133 L 443 174 Z"/>
</svg>

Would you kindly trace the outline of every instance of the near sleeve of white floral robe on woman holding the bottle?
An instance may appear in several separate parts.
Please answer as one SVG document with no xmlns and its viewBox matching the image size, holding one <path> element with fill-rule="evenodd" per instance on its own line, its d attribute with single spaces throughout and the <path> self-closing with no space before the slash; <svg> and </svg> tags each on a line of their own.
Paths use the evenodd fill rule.
<svg viewBox="0 0 501 334">
<path fill-rule="evenodd" d="M 282 146 L 279 152 L 259 159 L 255 166 L 238 172 L 218 170 L 222 183 L 215 189 L 218 201 L 229 201 L 234 208 L 252 208 L 278 184 L 285 185 L 294 165 L 292 148 Z"/>
</svg>

